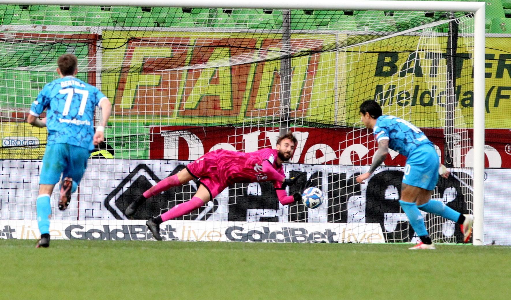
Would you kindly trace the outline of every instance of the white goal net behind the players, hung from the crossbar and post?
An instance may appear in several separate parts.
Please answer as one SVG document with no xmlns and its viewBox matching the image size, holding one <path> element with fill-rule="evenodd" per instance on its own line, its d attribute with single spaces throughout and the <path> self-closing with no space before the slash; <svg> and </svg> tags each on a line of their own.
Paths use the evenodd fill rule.
<svg viewBox="0 0 511 300">
<path fill-rule="evenodd" d="M 0 237 L 39 234 L 47 131 L 26 117 L 64 53 L 78 57 L 77 77 L 103 91 L 112 116 L 64 212 L 55 188 L 55 238 L 148 239 L 143 220 L 188 201 L 199 183 L 152 197 L 128 219 L 138 195 L 214 149 L 275 147 L 291 130 L 298 145 L 287 177 L 306 172 L 323 191 L 322 206 L 282 206 L 269 182 L 236 184 L 163 223 L 162 235 L 415 241 L 398 203 L 405 158 L 391 151 L 366 183 L 355 181 L 377 149 L 360 121 L 367 99 L 435 144 L 452 176 L 439 179 L 433 198 L 472 210 L 471 13 L 1 5 L 0 17 Z M 462 240 L 452 221 L 424 216 L 435 241 Z"/>
</svg>

